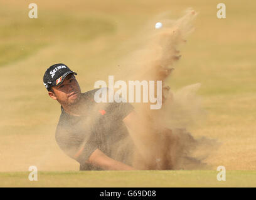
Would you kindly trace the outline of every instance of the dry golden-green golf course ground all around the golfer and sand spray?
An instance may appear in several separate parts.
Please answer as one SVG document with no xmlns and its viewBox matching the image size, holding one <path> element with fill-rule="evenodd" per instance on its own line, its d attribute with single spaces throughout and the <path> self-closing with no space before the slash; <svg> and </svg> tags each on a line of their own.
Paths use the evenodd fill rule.
<svg viewBox="0 0 256 200">
<path fill-rule="evenodd" d="M 216 0 L 36 2 L 38 19 L 29 19 L 28 1 L 0 5 L 0 186 L 256 186 L 256 1 L 221 1 L 226 19 L 216 17 Z M 82 92 L 93 89 L 116 74 L 152 17 L 169 11 L 178 19 L 187 8 L 198 12 L 195 31 L 168 84 L 176 91 L 201 83 L 206 116 L 188 131 L 221 143 L 204 160 L 213 171 L 79 172 L 55 141 L 60 105 L 46 93 L 45 69 L 65 63 L 78 73 Z M 37 166 L 39 181 L 28 180 L 29 166 Z M 226 167 L 227 181 L 216 180 L 217 166 Z"/>
</svg>

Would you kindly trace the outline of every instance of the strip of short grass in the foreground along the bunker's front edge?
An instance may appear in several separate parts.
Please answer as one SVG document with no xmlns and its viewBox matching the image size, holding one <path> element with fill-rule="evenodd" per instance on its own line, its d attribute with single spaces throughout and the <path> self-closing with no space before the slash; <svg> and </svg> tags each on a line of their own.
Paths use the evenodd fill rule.
<svg viewBox="0 0 256 200">
<path fill-rule="evenodd" d="M 83 171 L 0 173 L 1 187 L 255 187 L 255 171 L 228 171 L 226 181 L 216 171 Z"/>
</svg>

